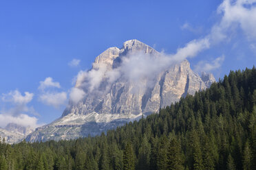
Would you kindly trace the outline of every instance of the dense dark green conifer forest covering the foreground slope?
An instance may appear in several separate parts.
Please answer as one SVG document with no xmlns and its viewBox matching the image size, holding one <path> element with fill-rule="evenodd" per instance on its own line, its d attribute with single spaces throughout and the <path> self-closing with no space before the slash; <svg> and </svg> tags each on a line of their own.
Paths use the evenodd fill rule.
<svg viewBox="0 0 256 170">
<path fill-rule="evenodd" d="M 100 136 L 1 141 L 0 169 L 256 169 L 256 69 Z"/>
</svg>

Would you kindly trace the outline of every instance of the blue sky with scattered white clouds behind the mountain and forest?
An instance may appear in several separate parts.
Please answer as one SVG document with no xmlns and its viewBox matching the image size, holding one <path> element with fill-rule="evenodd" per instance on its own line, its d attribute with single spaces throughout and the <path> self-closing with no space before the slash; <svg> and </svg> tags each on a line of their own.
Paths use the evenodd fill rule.
<svg viewBox="0 0 256 170">
<path fill-rule="evenodd" d="M 0 1 L 0 127 L 60 117 L 78 72 L 130 39 L 169 55 L 200 44 L 187 59 L 217 79 L 251 68 L 255 11 L 255 0 Z"/>
</svg>

